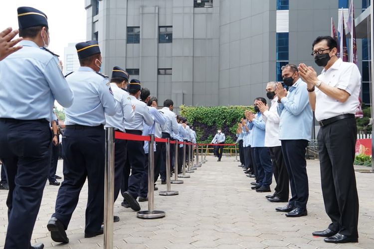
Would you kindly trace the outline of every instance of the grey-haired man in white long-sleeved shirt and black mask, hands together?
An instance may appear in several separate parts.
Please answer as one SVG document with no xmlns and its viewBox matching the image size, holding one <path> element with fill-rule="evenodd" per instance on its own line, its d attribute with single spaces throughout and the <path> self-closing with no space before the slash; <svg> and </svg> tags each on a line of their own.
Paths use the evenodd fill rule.
<svg viewBox="0 0 374 249">
<path fill-rule="evenodd" d="M 281 141 L 279 140 L 279 115 L 278 96 L 275 93 L 276 82 L 271 81 L 266 85 L 266 96 L 271 101 L 270 108 L 259 103 L 258 109 L 263 114 L 265 126 L 265 147 L 269 148 L 273 174 L 277 183 L 273 195 L 267 195 L 266 198 L 270 202 L 287 202 L 289 195 L 288 173 L 286 165 L 284 164 Z"/>
</svg>

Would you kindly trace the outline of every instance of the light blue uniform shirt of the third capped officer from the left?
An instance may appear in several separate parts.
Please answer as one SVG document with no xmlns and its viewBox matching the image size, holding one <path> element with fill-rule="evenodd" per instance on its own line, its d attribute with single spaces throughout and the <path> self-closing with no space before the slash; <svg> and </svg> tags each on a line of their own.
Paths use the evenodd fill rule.
<svg viewBox="0 0 374 249">
<path fill-rule="evenodd" d="M 116 114 L 114 116 L 105 115 L 105 127 L 114 127 L 122 132 L 125 131 L 125 121 L 134 120 L 135 112 L 129 100 L 129 93 L 122 90 L 116 83 L 110 83 L 114 99 L 117 102 Z"/>
</svg>

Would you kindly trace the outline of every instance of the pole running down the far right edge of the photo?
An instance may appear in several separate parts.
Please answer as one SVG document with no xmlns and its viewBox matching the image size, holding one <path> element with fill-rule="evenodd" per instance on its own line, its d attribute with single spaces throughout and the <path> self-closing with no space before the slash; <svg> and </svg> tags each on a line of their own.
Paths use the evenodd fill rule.
<svg viewBox="0 0 374 249">
<path fill-rule="evenodd" d="M 374 95 L 373 95 L 373 90 L 374 90 L 374 32 L 373 32 L 373 23 L 374 23 L 374 20 L 373 20 L 373 13 L 374 13 L 374 0 L 370 0 L 370 8 L 371 8 L 371 12 L 370 12 L 370 47 L 371 47 L 371 62 L 370 62 L 370 68 L 371 68 L 371 80 L 372 80 L 372 96 L 371 96 L 371 99 L 372 99 L 372 105 L 371 105 L 371 109 L 372 109 L 372 120 L 374 119 Z M 369 36 L 369 34 L 368 34 Z M 373 123 L 373 121 L 372 121 Z M 372 127 L 373 127 L 373 124 L 372 124 Z M 372 172 L 374 172 L 374 130 L 372 128 Z"/>
</svg>

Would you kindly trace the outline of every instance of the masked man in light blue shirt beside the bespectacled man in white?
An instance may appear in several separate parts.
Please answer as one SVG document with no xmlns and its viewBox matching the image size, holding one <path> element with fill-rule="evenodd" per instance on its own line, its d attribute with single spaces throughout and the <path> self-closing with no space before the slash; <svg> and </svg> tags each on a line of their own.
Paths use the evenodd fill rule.
<svg viewBox="0 0 374 249">
<path fill-rule="evenodd" d="M 277 84 L 275 93 L 278 96 L 279 140 L 290 178 L 292 198 L 288 205 L 276 208 L 278 212 L 286 212 L 287 217 L 308 215 L 307 202 L 309 197 L 307 163 L 305 160 L 308 141 L 312 136 L 312 109 L 309 105 L 307 83 L 299 76 L 294 64 L 282 67 L 283 83 Z"/>
</svg>

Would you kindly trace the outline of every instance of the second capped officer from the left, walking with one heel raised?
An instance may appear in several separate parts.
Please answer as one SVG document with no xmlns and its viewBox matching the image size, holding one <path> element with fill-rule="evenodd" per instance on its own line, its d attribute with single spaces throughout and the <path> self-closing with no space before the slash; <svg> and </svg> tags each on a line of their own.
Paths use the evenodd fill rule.
<svg viewBox="0 0 374 249">
<path fill-rule="evenodd" d="M 105 115 L 116 114 L 116 101 L 106 76 L 98 73 L 101 53 L 97 41 L 75 45 L 81 67 L 66 76 L 74 92 L 74 103 L 65 109 L 62 137 L 64 181 L 58 190 L 55 213 L 47 224 L 55 242 L 68 243 L 66 236 L 79 193 L 88 179 L 88 201 L 84 237 L 103 234 Z"/>
</svg>

